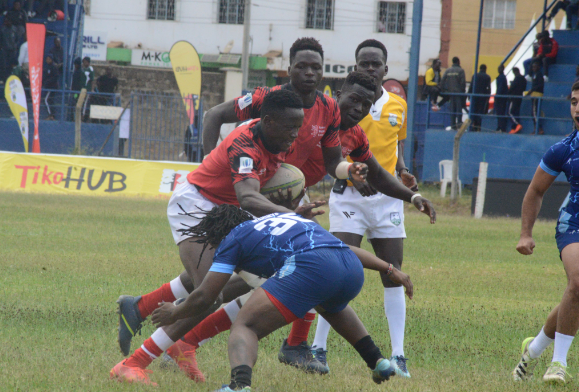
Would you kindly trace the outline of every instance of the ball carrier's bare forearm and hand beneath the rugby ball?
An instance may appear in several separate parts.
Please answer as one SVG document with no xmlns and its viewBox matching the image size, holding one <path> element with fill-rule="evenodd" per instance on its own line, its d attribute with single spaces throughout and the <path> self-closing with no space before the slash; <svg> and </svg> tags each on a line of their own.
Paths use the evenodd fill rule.
<svg viewBox="0 0 579 392">
<path fill-rule="evenodd" d="M 324 211 L 312 211 L 314 208 L 324 205 L 325 201 L 316 201 L 313 203 L 306 203 L 295 211 L 292 211 L 283 206 L 273 204 L 265 196 L 259 193 L 260 183 L 255 178 L 246 178 L 233 185 L 239 206 L 255 216 L 264 216 L 273 214 L 274 212 L 288 213 L 295 212 L 306 219 L 312 219 L 316 215 L 321 215 Z"/>
</svg>

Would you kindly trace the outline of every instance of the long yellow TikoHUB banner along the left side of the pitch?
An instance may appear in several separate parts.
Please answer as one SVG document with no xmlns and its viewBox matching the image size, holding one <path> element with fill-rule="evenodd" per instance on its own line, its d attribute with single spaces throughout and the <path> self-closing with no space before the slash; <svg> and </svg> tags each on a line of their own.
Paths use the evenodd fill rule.
<svg viewBox="0 0 579 392">
<path fill-rule="evenodd" d="M 0 151 L 0 189 L 100 196 L 170 196 L 198 166 Z"/>
</svg>

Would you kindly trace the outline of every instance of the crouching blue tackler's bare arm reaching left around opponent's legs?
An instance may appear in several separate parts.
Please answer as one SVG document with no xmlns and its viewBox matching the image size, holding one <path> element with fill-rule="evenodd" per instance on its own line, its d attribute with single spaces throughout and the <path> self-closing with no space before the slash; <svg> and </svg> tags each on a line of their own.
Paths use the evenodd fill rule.
<svg viewBox="0 0 579 392">
<path fill-rule="evenodd" d="M 228 273 L 208 272 L 201 286 L 189 294 L 184 302 L 179 305 L 164 303 L 153 312 L 151 321 L 159 328 L 205 312 L 215 303 L 229 278 L 231 274 Z"/>
</svg>

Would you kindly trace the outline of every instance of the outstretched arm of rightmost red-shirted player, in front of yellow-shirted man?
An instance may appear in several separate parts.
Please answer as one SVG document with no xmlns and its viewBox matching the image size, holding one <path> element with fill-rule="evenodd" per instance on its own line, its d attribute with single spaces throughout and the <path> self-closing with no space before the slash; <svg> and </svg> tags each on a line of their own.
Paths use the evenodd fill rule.
<svg viewBox="0 0 579 392">
<path fill-rule="evenodd" d="M 428 199 L 422 196 L 415 196 L 414 199 L 412 199 L 416 193 L 402 185 L 396 177 L 384 170 L 375 157 L 368 159 L 366 164 L 368 165 L 368 182 L 372 187 L 386 196 L 412 203 L 418 211 L 430 217 L 430 223 L 436 222 L 436 211 Z"/>
</svg>

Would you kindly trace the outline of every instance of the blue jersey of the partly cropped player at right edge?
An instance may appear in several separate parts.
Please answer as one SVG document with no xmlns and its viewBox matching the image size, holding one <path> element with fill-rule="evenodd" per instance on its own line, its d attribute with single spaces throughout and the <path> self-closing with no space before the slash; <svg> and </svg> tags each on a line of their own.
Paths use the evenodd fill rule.
<svg viewBox="0 0 579 392">
<path fill-rule="evenodd" d="M 579 138 L 577 130 L 547 150 L 539 165 L 546 173 L 558 176 L 565 173 L 571 185 L 569 202 L 561 209 L 558 233 L 579 230 Z"/>
</svg>

